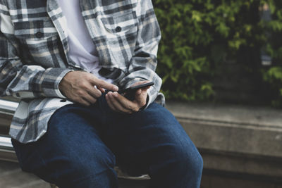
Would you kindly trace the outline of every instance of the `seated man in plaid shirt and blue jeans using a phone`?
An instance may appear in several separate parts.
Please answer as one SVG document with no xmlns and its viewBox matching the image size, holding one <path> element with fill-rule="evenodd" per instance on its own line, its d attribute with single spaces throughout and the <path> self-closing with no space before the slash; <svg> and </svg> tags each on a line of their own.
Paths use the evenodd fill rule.
<svg viewBox="0 0 282 188">
<path fill-rule="evenodd" d="M 21 99 L 10 134 L 21 168 L 59 187 L 200 187 L 202 158 L 161 105 L 150 0 L 0 0 L 0 94 Z M 118 89 L 154 82 L 130 101 Z M 105 92 L 109 90 L 109 92 Z"/>
</svg>

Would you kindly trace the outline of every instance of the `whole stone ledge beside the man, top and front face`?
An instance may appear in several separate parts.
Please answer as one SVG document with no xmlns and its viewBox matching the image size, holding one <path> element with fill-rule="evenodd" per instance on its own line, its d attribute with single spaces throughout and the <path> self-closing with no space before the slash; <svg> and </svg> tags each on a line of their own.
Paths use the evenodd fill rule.
<svg viewBox="0 0 282 188">
<path fill-rule="evenodd" d="M 204 169 L 282 182 L 282 111 L 168 102 L 204 158 Z"/>
</svg>

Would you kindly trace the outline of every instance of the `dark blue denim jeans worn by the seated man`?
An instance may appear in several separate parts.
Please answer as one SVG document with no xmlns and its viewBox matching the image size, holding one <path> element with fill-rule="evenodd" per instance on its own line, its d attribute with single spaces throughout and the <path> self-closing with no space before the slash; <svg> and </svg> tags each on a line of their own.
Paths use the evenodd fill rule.
<svg viewBox="0 0 282 188">
<path fill-rule="evenodd" d="M 118 187 L 116 163 L 149 174 L 154 188 L 200 187 L 202 157 L 159 104 L 132 115 L 111 111 L 104 96 L 89 107 L 70 104 L 51 116 L 37 142 L 12 143 L 24 171 L 61 188 Z"/>
</svg>

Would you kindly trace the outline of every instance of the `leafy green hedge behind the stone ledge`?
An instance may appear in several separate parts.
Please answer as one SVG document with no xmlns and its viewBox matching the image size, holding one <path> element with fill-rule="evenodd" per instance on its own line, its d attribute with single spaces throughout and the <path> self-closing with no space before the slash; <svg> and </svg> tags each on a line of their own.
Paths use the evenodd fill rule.
<svg viewBox="0 0 282 188">
<path fill-rule="evenodd" d="M 282 1 L 153 3 L 162 32 L 157 73 L 163 77 L 167 99 L 213 100 L 216 92 L 211 80 L 216 68 L 235 61 L 261 77 L 271 89 L 269 101 L 282 106 Z M 271 20 L 262 19 L 266 4 Z M 262 65 L 262 52 L 271 56 L 271 65 Z"/>
</svg>

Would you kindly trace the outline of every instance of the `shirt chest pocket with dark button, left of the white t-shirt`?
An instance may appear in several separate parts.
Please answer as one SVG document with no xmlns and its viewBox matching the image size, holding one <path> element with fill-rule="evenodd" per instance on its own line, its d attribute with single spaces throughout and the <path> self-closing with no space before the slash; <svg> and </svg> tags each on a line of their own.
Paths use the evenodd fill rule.
<svg viewBox="0 0 282 188">
<path fill-rule="evenodd" d="M 49 19 L 14 23 L 20 58 L 27 64 L 54 66 L 52 57 L 62 53 L 61 40 Z"/>
</svg>

